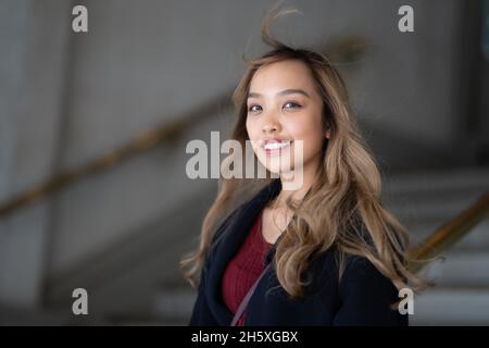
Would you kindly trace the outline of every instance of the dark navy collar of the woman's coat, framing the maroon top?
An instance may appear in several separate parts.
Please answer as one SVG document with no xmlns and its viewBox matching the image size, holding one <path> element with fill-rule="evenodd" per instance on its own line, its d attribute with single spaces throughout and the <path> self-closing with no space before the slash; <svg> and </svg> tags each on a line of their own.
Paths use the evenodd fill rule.
<svg viewBox="0 0 489 348">
<path fill-rule="evenodd" d="M 263 210 L 267 202 L 280 192 L 280 179 L 274 179 L 269 185 L 260 190 L 260 192 L 251 200 L 237 209 L 234 217 L 223 232 L 222 238 L 218 238 L 217 243 L 221 244 L 221 247 L 214 249 L 215 254 L 212 260 L 212 266 L 209 270 L 210 272 L 208 275 L 209 277 L 205 293 L 208 296 L 209 307 L 221 325 L 229 325 L 233 320 L 233 313 L 227 309 L 222 299 L 221 283 L 224 271 L 243 244 L 259 213 Z M 265 257 L 265 265 L 272 261 L 276 245 L 280 237 L 277 238 L 275 244 L 268 250 Z"/>
</svg>

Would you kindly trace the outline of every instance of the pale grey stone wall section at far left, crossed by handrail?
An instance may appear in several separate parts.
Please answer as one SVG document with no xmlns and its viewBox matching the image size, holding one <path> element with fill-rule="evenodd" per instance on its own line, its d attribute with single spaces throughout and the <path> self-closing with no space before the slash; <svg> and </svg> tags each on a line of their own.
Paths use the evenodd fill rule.
<svg viewBox="0 0 489 348">
<path fill-rule="evenodd" d="M 3 1 L 1 45 L 2 201 L 53 173 L 62 122 L 68 11 L 63 1 Z M 0 299 L 39 304 L 49 241 L 43 200 L 0 222 Z"/>
</svg>

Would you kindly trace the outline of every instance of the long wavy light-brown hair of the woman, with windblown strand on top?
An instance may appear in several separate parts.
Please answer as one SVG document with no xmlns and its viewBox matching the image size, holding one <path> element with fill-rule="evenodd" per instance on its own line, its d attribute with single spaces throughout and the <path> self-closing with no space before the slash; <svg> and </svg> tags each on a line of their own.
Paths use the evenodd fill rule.
<svg viewBox="0 0 489 348">
<path fill-rule="evenodd" d="M 259 59 L 247 60 L 249 69 L 233 95 L 237 120 L 230 137 L 243 148 L 249 140 L 247 95 L 261 66 L 297 60 L 310 69 L 323 100 L 323 125 L 330 127 L 330 137 L 325 138 L 317 179 L 305 197 L 300 204 L 286 201 L 293 217 L 277 240 L 274 256 L 277 278 L 290 297 L 301 297 L 308 285 L 302 275 L 311 257 L 335 247 L 340 254 L 339 277 L 344 271 L 346 257 L 360 256 L 369 260 L 398 289 L 409 284 L 416 291 L 424 281 L 406 268 L 412 261 L 406 253 L 409 234 L 383 207 L 380 173 L 353 119 L 343 79 L 323 54 L 291 48 L 271 35 L 271 23 L 290 12 L 293 11 L 268 14 L 262 24 L 262 40 L 273 49 Z M 199 246 L 180 261 L 185 277 L 192 286 L 223 216 L 240 202 L 236 203 L 238 198 L 242 202 L 243 192 L 256 192 L 271 181 L 220 178 L 217 197 L 203 220 Z"/>
</svg>

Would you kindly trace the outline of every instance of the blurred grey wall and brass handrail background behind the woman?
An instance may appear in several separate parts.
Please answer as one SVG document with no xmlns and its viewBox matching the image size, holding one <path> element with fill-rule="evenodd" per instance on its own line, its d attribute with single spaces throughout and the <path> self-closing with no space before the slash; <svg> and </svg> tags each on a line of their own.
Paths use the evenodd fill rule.
<svg viewBox="0 0 489 348">
<path fill-rule="evenodd" d="M 88 9 L 88 33 L 72 10 Z M 235 120 L 241 54 L 275 1 L 0 0 L 0 324 L 184 325 L 178 270 L 216 179 L 190 139 Z M 398 10 L 414 10 L 401 33 Z M 489 189 L 489 1 L 286 1 L 286 44 L 330 57 L 419 243 Z M 489 324 L 489 223 L 443 252 L 412 325 Z M 74 315 L 72 291 L 88 291 Z"/>
</svg>

